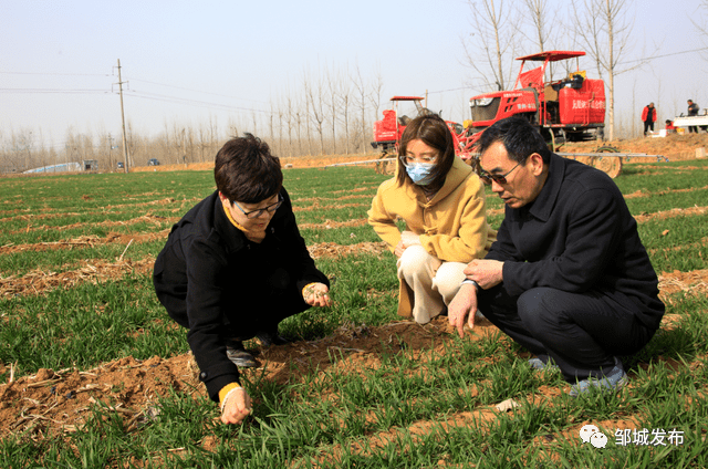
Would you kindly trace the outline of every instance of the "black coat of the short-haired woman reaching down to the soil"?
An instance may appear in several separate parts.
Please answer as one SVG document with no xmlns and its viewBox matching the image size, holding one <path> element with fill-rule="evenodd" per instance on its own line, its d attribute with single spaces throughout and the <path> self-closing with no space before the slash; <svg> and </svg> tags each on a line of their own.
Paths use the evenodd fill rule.
<svg viewBox="0 0 708 469">
<path fill-rule="evenodd" d="M 261 243 L 231 223 L 215 191 L 173 227 L 155 261 L 157 296 L 189 329 L 187 341 L 214 400 L 239 376 L 226 355 L 225 331 L 252 337 L 269 320 L 277 324 L 308 309 L 300 293 L 308 283 L 329 285 L 300 236 L 288 192 L 280 194 L 283 205 Z"/>
</svg>

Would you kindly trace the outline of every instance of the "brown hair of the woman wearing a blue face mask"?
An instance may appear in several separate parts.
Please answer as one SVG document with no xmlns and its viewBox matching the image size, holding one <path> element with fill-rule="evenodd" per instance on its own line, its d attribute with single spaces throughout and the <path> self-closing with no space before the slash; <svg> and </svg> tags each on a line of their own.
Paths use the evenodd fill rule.
<svg viewBox="0 0 708 469">
<path fill-rule="evenodd" d="M 433 190 L 438 190 L 445 184 L 445 178 L 455 161 L 452 134 L 450 134 L 450 129 L 442 117 L 430 113 L 419 115 L 408 123 L 400 137 L 398 156 L 404 156 L 408 144 L 415 139 L 420 139 L 427 146 L 439 152 L 435 168 L 430 173 L 430 184 L 426 186 Z M 398 177 L 396 180 L 399 185 L 403 185 L 407 178 L 409 179 L 410 177 L 406 173 L 403 161 L 398 158 Z"/>
</svg>

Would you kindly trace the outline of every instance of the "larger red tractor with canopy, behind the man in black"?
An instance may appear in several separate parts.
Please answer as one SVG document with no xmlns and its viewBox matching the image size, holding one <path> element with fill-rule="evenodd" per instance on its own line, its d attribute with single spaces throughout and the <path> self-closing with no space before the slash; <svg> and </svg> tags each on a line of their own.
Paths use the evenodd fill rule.
<svg viewBox="0 0 708 469">
<path fill-rule="evenodd" d="M 523 116 L 535 125 L 555 150 L 564 142 L 602 138 L 605 127 L 605 84 L 575 71 L 562 80 L 545 80 L 549 63 L 585 55 L 582 51 L 546 51 L 518 58 L 521 61 L 513 91 L 480 94 L 469 101 L 468 135 L 476 143 L 497 121 Z M 524 70 L 529 62 L 531 65 Z M 540 66 L 531 69 L 538 62 Z M 576 66 L 577 69 L 577 66 Z"/>
</svg>

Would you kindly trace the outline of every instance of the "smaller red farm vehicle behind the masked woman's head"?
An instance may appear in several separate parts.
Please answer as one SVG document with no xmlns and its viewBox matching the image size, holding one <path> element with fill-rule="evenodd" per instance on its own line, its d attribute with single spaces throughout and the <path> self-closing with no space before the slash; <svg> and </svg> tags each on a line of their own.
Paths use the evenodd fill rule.
<svg viewBox="0 0 708 469">
<path fill-rule="evenodd" d="M 384 118 L 374 123 L 372 146 L 382 150 L 379 157 L 382 161 L 376 165 L 378 173 L 393 173 L 395 160 L 392 161 L 389 157 L 397 155 L 398 142 L 408 123 L 419 115 L 433 114 L 420 104 L 423 100 L 420 96 L 394 96 L 391 98 L 391 108 L 384 111 Z M 450 121 L 446 121 L 446 123 L 455 140 L 456 154 L 462 159 L 469 159 L 471 157 L 471 134 L 468 134 L 461 124 Z"/>
</svg>

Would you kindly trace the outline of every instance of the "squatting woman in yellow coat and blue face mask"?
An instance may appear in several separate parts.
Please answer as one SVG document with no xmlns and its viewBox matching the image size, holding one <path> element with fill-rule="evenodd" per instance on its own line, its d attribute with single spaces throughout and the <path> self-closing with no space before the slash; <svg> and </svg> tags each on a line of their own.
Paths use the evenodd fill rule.
<svg viewBox="0 0 708 469">
<path fill-rule="evenodd" d="M 398 314 L 425 324 L 452 301 L 465 267 L 487 254 L 497 232 L 487 223 L 485 187 L 455 156 L 442 118 L 413 119 L 398 155 L 396 176 L 378 187 L 368 223 L 398 258 Z M 406 222 L 403 232 L 397 218 Z"/>
</svg>

